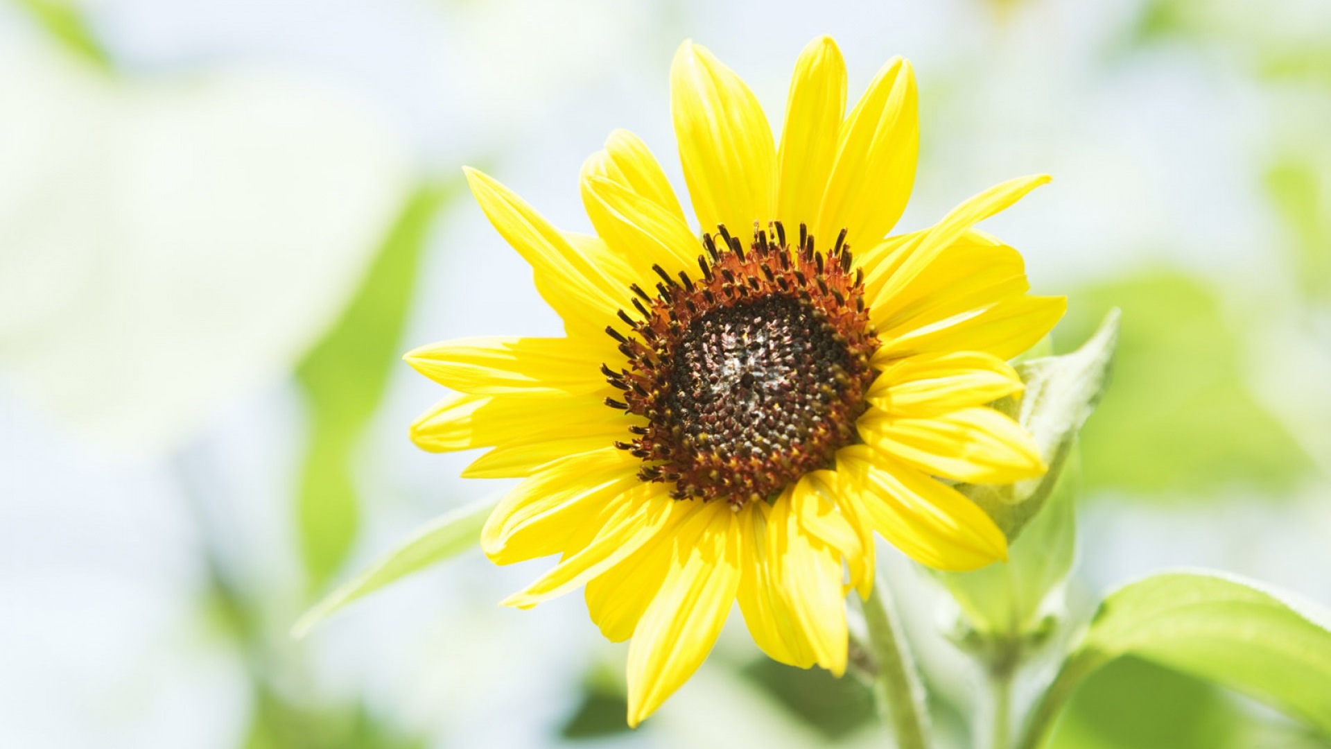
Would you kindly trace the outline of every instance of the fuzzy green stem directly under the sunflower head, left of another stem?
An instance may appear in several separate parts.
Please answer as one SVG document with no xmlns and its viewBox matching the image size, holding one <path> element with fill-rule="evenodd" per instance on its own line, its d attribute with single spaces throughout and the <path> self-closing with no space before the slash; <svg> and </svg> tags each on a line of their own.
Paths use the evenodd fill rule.
<svg viewBox="0 0 1331 749">
<path fill-rule="evenodd" d="M 862 609 L 873 657 L 873 694 L 878 712 L 890 724 L 897 749 L 926 749 L 929 725 L 924 688 L 892 597 L 880 581 L 873 584 L 873 594 L 864 601 Z"/>
</svg>

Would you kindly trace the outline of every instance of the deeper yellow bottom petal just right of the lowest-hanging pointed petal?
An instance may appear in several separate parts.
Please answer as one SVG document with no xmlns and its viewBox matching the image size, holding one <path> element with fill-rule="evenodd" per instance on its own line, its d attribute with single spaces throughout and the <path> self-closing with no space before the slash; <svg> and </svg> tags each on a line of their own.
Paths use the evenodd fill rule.
<svg viewBox="0 0 1331 749">
<path fill-rule="evenodd" d="M 781 509 L 773 509 L 780 506 Z M 753 642 L 772 660 L 809 668 L 817 656 L 808 637 L 796 624 L 787 597 L 781 593 L 781 553 L 789 516 L 789 492 L 775 505 L 749 502 L 740 510 L 740 533 L 744 534 L 743 574 L 739 601 L 744 624 Z"/>
</svg>

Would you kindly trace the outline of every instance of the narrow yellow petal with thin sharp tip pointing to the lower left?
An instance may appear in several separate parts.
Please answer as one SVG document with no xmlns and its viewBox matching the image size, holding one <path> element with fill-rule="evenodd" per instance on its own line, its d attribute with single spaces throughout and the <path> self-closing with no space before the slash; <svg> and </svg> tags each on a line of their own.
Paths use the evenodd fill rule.
<svg viewBox="0 0 1331 749">
<path fill-rule="evenodd" d="M 583 585 L 664 533 L 671 518 L 681 514 L 677 508 L 666 485 L 639 482 L 608 505 L 610 517 L 598 524 L 599 530 L 587 546 L 500 605 L 526 609 Z"/>
</svg>

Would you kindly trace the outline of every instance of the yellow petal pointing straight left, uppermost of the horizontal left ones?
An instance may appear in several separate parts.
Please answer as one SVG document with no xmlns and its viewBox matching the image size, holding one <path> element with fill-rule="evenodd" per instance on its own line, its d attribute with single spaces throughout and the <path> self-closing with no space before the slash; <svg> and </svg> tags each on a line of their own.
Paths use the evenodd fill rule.
<svg viewBox="0 0 1331 749">
<path fill-rule="evenodd" d="M 463 393 L 590 393 L 607 388 L 595 352 L 572 339 L 459 339 L 413 349 L 402 359 L 435 382 Z"/>
</svg>

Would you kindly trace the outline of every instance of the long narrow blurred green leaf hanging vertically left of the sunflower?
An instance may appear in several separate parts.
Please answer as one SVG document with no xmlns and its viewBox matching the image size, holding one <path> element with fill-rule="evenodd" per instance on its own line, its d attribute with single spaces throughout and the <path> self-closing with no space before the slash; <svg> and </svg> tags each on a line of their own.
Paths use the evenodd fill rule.
<svg viewBox="0 0 1331 749">
<path fill-rule="evenodd" d="M 297 368 L 310 413 L 297 517 L 311 592 L 327 584 L 355 538 L 353 452 L 398 361 L 431 221 L 457 191 L 457 184 L 423 185 L 407 199 L 341 320 Z"/>
</svg>

